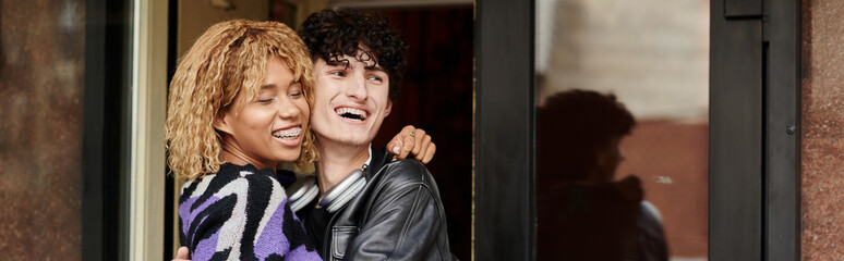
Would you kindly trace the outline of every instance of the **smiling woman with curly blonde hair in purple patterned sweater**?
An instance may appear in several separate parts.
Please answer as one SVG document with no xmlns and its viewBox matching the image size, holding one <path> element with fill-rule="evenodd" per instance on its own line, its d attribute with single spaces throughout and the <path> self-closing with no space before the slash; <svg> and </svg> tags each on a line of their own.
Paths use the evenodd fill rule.
<svg viewBox="0 0 844 261">
<path fill-rule="evenodd" d="M 179 234 L 194 259 L 319 260 L 274 178 L 316 157 L 312 91 L 308 49 L 280 23 L 216 24 L 182 59 L 166 129 L 170 167 L 189 179 Z"/>
</svg>

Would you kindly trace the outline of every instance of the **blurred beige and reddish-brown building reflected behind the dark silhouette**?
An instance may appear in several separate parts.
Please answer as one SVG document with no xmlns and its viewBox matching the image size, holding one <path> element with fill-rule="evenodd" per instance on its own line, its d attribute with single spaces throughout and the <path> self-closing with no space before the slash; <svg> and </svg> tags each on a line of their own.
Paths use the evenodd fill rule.
<svg viewBox="0 0 844 261">
<path fill-rule="evenodd" d="M 672 257 L 704 259 L 709 1 L 538 0 L 536 7 L 538 105 L 572 88 L 614 92 L 638 121 L 622 142 L 627 160 L 617 176 L 642 181 L 646 199 L 662 213 Z"/>
</svg>

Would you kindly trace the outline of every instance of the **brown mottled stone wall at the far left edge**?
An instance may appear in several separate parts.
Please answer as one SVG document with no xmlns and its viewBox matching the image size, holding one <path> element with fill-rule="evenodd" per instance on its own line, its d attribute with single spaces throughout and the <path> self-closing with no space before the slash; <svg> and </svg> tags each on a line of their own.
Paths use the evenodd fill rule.
<svg viewBox="0 0 844 261">
<path fill-rule="evenodd" d="M 0 1 L 0 259 L 82 259 L 85 1 Z"/>
</svg>

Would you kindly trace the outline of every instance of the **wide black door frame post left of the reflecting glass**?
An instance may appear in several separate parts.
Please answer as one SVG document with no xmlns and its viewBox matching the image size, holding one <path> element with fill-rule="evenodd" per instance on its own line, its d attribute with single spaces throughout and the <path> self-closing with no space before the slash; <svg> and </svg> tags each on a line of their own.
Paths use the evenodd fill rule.
<svg viewBox="0 0 844 261">
<path fill-rule="evenodd" d="M 473 260 L 535 260 L 534 1 L 475 4 Z"/>
</svg>

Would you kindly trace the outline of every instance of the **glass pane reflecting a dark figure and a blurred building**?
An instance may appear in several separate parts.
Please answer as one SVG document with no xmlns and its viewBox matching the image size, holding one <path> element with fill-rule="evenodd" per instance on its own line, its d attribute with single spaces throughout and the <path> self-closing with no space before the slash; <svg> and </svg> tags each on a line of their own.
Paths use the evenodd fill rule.
<svg viewBox="0 0 844 261">
<path fill-rule="evenodd" d="M 540 260 L 707 259 L 708 42 L 707 0 L 536 1 Z"/>
</svg>

